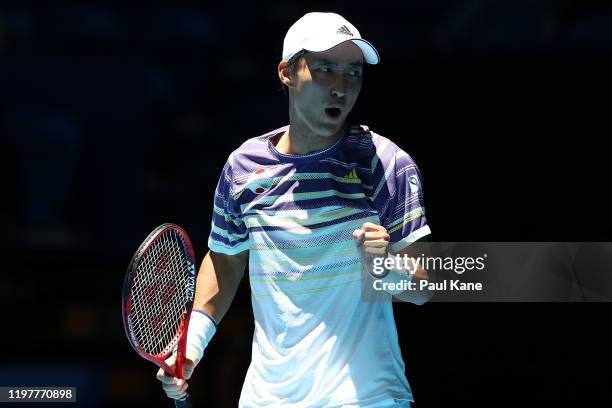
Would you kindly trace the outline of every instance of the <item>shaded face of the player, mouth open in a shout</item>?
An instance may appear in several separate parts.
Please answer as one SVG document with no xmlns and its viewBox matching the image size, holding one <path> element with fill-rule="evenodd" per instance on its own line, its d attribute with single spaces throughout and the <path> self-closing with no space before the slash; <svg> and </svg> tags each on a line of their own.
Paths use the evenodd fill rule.
<svg viewBox="0 0 612 408">
<path fill-rule="evenodd" d="M 337 134 L 357 101 L 362 73 L 363 54 L 351 41 L 307 53 L 297 68 L 291 121 L 318 136 Z"/>
</svg>

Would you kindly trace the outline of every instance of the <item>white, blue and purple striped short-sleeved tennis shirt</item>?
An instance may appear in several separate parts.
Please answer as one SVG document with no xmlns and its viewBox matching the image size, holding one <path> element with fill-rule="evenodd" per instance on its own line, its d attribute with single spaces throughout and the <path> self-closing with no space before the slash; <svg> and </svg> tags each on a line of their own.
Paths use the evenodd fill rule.
<svg viewBox="0 0 612 408">
<path fill-rule="evenodd" d="M 391 252 L 429 234 L 419 170 L 366 126 L 306 155 L 272 144 L 287 129 L 235 150 L 215 193 L 209 248 L 249 251 L 255 332 L 239 406 L 409 406 L 391 299 L 362 299 L 352 233 L 382 225 Z"/>
</svg>

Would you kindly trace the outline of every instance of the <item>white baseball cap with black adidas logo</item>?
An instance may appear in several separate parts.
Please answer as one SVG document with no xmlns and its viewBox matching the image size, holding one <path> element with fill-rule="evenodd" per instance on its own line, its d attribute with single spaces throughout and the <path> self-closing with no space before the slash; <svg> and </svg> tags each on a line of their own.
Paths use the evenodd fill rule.
<svg viewBox="0 0 612 408">
<path fill-rule="evenodd" d="M 380 57 L 372 44 L 361 38 L 359 31 L 336 13 L 308 13 L 296 21 L 283 42 L 283 59 L 289 60 L 302 50 L 327 51 L 346 41 L 361 48 L 368 64 L 378 64 Z"/>
</svg>

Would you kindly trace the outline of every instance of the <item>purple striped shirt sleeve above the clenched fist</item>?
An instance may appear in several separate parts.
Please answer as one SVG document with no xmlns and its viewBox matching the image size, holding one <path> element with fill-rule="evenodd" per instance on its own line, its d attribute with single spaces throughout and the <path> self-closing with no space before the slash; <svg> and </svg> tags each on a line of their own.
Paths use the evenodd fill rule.
<svg viewBox="0 0 612 408">
<path fill-rule="evenodd" d="M 389 157 L 386 163 L 384 156 Z M 421 173 L 412 158 L 395 145 L 382 155 L 377 167 L 381 178 L 374 203 L 391 237 L 389 249 L 397 253 L 431 234 L 425 218 Z"/>
</svg>

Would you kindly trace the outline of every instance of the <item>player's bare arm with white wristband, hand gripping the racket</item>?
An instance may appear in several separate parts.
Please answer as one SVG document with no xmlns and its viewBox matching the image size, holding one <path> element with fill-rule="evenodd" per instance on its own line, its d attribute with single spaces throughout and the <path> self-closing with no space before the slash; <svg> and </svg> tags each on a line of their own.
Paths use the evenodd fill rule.
<svg viewBox="0 0 612 408">
<path fill-rule="evenodd" d="M 204 355 L 204 349 L 217 331 L 218 322 L 229 309 L 248 262 L 248 251 L 227 255 L 208 251 L 196 282 L 193 311 L 187 334 L 187 351 L 183 372 L 185 379 L 193 374 L 195 366 Z M 167 363 L 174 365 L 176 354 Z M 163 370 L 157 372 L 157 379 L 168 397 L 181 399 L 186 395 L 188 384 L 185 380 L 170 377 Z"/>
</svg>

